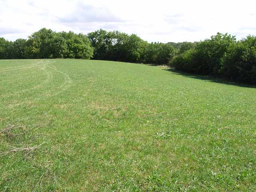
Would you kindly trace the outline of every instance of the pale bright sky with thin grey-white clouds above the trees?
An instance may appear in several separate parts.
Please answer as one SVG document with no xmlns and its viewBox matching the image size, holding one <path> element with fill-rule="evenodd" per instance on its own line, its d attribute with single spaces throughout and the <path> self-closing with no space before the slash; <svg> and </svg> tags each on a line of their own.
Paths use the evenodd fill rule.
<svg viewBox="0 0 256 192">
<path fill-rule="evenodd" d="M 0 37 L 41 28 L 87 34 L 100 28 L 148 42 L 194 42 L 217 32 L 256 35 L 255 0 L 0 0 Z"/>
</svg>

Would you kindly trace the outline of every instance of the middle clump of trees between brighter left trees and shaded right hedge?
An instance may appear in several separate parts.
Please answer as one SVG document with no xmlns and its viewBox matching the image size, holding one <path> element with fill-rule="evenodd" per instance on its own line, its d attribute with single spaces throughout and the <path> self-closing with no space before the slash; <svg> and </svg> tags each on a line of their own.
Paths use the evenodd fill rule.
<svg viewBox="0 0 256 192">
<path fill-rule="evenodd" d="M 88 34 L 96 60 L 168 64 L 175 48 L 164 43 L 148 43 L 136 34 L 97 30 Z"/>
</svg>

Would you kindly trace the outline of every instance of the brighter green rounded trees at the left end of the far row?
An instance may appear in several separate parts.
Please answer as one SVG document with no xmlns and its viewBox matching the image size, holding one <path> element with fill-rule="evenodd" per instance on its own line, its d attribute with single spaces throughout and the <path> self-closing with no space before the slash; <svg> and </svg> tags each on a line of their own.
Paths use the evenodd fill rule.
<svg viewBox="0 0 256 192">
<path fill-rule="evenodd" d="M 54 32 L 42 28 L 26 39 L 14 42 L 0 38 L 0 59 L 83 58 L 93 56 L 90 40 L 84 34 Z"/>
</svg>

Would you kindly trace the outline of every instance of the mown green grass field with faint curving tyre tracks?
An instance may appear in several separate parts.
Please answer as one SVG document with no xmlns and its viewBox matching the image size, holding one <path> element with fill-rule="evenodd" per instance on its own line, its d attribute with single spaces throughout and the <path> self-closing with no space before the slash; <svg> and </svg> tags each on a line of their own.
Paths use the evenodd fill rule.
<svg viewBox="0 0 256 192">
<path fill-rule="evenodd" d="M 0 60 L 0 191 L 255 191 L 256 88 L 159 66 Z"/>
</svg>

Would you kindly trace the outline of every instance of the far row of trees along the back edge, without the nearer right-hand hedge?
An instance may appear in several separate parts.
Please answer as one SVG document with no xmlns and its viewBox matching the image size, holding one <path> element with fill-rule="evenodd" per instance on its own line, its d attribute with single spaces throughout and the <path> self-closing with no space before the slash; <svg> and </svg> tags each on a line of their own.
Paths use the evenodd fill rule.
<svg viewBox="0 0 256 192">
<path fill-rule="evenodd" d="M 136 34 L 102 29 L 84 35 L 42 28 L 27 40 L 0 38 L 0 59 L 82 58 L 168 64 L 174 55 L 170 44 L 150 44 Z"/>
</svg>

